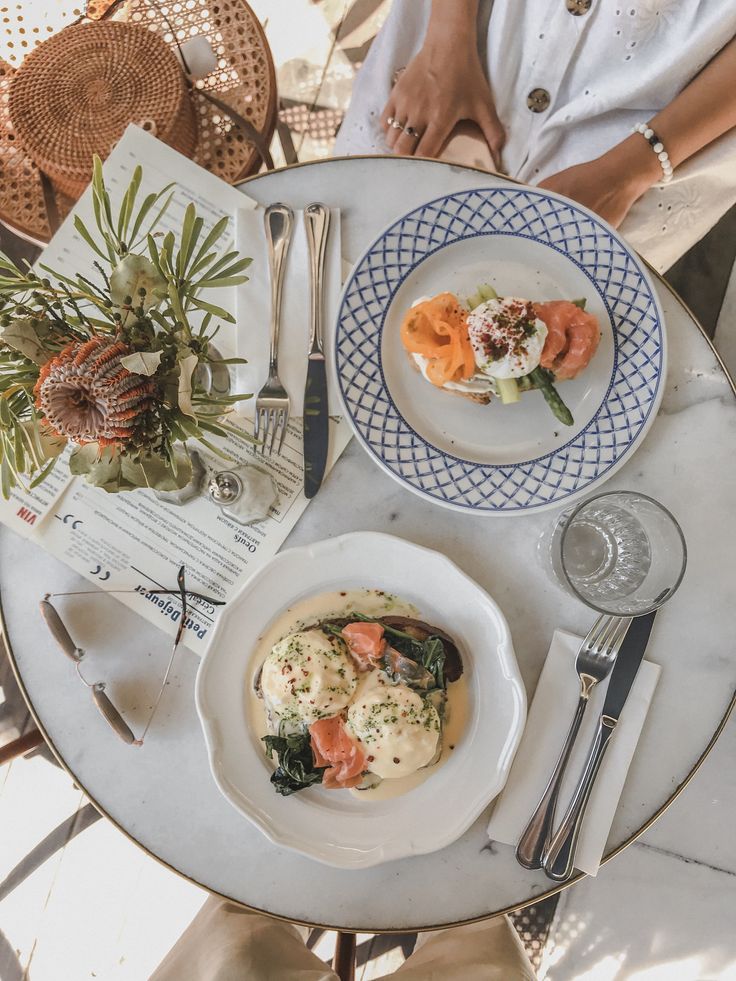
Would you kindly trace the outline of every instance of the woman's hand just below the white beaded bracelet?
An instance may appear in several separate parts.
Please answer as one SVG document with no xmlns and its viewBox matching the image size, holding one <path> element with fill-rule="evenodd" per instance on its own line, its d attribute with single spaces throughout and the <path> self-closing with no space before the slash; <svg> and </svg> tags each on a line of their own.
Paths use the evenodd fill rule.
<svg viewBox="0 0 736 981">
<path fill-rule="evenodd" d="M 661 176 L 656 154 L 634 134 L 603 156 L 561 170 L 539 186 L 584 204 L 618 228 L 634 202 Z"/>
</svg>

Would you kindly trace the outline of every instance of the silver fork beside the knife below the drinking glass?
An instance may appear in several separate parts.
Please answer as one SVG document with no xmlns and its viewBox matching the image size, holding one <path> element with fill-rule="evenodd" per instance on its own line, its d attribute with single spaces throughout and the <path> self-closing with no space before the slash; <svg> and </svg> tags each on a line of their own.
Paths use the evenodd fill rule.
<svg viewBox="0 0 736 981">
<path fill-rule="evenodd" d="M 542 856 L 552 837 L 552 824 L 562 778 L 591 692 L 610 674 L 630 623 L 631 617 L 598 617 L 580 645 L 575 658 L 575 671 L 580 679 L 580 697 L 575 715 L 547 788 L 516 846 L 516 860 L 526 869 L 542 867 Z"/>
</svg>

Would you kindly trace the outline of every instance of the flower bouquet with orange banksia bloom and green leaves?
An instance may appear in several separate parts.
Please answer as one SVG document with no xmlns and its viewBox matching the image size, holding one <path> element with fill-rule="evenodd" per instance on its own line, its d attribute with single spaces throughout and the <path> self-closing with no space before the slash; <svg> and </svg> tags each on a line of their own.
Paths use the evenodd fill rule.
<svg viewBox="0 0 736 981">
<path fill-rule="evenodd" d="M 138 204 L 136 167 L 117 214 L 94 162 L 95 273 L 19 268 L 0 254 L 0 489 L 43 481 L 67 443 L 69 467 L 106 491 L 174 490 L 191 477 L 184 446 L 233 431 L 232 405 L 213 397 L 203 366 L 236 363 L 212 346 L 234 317 L 201 298 L 245 282 L 250 259 L 218 251 L 228 219 L 205 232 L 193 204 L 181 232 L 157 231 L 172 184 Z M 87 271 L 85 271 L 87 272 Z M 237 430 L 242 435 L 241 430 Z"/>
</svg>

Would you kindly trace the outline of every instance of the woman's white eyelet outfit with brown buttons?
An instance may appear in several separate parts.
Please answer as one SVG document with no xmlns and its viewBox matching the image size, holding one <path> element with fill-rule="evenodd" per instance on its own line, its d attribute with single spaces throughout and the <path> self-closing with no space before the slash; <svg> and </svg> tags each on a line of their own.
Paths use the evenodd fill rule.
<svg viewBox="0 0 736 981">
<path fill-rule="evenodd" d="M 393 0 L 358 73 L 335 153 L 385 153 L 379 117 L 421 47 L 430 0 Z M 505 172 L 530 184 L 624 140 L 736 36 L 736 0 L 481 0 L 479 45 L 506 130 Z M 721 98 L 733 98 L 724 93 Z M 736 131 L 641 198 L 621 231 L 668 268 L 736 202 Z"/>
</svg>

